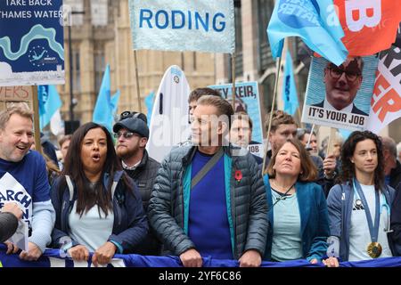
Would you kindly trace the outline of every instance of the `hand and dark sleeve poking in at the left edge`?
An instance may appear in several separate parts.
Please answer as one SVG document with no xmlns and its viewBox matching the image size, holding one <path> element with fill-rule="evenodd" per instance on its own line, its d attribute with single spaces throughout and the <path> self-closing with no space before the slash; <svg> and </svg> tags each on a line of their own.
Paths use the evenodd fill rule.
<svg viewBox="0 0 401 285">
<path fill-rule="evenodd" d="M 22 211 L 16 203 L 7 203 L 0 209 L 0 242 L 12 237 L 21 217 Z"/>
</svg>

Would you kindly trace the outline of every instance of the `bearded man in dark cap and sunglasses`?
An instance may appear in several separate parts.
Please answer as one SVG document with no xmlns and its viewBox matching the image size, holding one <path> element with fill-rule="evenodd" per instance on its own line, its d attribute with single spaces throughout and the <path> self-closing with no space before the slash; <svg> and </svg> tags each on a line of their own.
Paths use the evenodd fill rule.
<svg viewBox="0 0 401 285">
<path fill-rule="evenodd" d="M 123 116 L 124 115 L 124 116 Z M 146 213 L 151 188 L 158 173 L 160 163 L 149 157 L 146 142 L 149 139 L 149 128 L 146 116 L 137 112 L 123 112 L 121 120 L 113 126 L 117 137 L 117 155 L 121 159 L 124 170 L 138 186 Z M 160 255 L 161 243 L 151 231 L 133 252 L 143 256 Z"/>
</svg>

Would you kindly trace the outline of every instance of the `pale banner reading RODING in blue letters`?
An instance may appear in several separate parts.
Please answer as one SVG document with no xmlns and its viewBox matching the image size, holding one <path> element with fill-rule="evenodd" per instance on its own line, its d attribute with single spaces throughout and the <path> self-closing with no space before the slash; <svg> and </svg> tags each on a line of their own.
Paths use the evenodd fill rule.
<svg viewBox="0 0 401 285">
<path fill-rule="evenodd" d="M 135 50 L 233 53 L 233 0 L 129 0 Z"/>
</svg>

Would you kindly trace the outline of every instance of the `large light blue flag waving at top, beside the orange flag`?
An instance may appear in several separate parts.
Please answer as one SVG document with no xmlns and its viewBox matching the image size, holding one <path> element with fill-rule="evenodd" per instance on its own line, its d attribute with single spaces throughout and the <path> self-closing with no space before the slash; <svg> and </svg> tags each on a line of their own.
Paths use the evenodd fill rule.
<svg viewBox="0 0 401 285">
<path fill-rule="evenodd" d="M 336 65 L 348 55 L 332 0 L 277 0 L 267 37 L 274 58 L 281 56 L 285 37 L 301 37 L 315 53 Z"/>
</svg>

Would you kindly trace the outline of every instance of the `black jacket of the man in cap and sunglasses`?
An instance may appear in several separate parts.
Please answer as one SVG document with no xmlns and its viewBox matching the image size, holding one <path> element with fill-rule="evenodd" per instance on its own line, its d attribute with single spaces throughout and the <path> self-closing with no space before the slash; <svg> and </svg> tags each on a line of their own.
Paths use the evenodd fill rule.
<svg viewBox="0 0 401 285">
<path fill-rule="evenodd" d="M 160 163 L 152 159 L 148 155 L 148 151 L 144 150 L 143 158 L 139 165 L 134 170 L 125 169 L 138 186 L 141 193 L 143 209 L 145 213 L 148 210 L 149 199 L 151 199 L 151 188 L 153 187 L 154 179 L 158 174 Z M 134 248 L 134 252 L 143 256 L 158 256 L 160 255 L 161 242 L 156 238 L 151 227 L 146 238 Z"/>
</svg>

